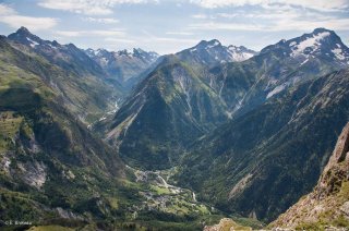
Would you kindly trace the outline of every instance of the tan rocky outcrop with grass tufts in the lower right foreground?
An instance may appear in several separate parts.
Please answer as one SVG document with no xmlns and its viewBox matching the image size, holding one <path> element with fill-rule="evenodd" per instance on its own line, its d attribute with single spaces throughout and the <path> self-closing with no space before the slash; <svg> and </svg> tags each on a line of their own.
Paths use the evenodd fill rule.
<svg viewBox="0 0 349 231">
<path fill-rule="evenodd" d="M 323 229 L 326 226 L 349 226 L 349 123 L 314 191 L 270 224 L 292 229 Z"/>
</svg>

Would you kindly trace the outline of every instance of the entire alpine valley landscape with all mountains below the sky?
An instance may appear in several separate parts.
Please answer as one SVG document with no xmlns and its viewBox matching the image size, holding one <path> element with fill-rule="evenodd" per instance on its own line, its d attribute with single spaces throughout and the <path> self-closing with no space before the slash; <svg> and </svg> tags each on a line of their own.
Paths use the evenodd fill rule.
<svg viewBox="0 0 349 231">
<path fill-rule="evenodd" d="M 0 37 L 0 229 L 348 230 L 348 121 L 334 31 L 159 56 L 21 27 Z"/>
</svg>

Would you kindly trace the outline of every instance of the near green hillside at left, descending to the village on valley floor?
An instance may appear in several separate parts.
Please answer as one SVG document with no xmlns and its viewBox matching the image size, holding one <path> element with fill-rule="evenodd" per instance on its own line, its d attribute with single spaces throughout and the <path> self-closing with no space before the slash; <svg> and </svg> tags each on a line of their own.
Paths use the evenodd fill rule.
<svg viewBox="0 0 349 231">
<path fill-rule="evenodd" d="M 212 216 L 191 191 L 169 185 L 169 173 L 125 168 L 61 104 L 61 92 L 27 69 L 33 58 L 1 46 L 0 229 L 200 230 L 221 217 Z M 10 221 L 31 224 L 9 227 Z"/>
</svg>

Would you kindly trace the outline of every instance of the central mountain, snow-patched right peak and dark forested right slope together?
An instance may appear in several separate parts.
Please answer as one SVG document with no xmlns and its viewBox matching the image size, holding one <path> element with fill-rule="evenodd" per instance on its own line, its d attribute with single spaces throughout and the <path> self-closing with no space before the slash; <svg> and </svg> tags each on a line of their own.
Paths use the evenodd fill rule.
<svg viewBox="0 0 349 231">
<path fill-rule="evenodd" d="M 213 68 L 184 50 L 139 85 L 106 138 L 139 168 L 180 161 L 181 185 L 227 212 L 268 222 L 313 187 L 348 120 L 348 74 L 337 73 L 347 53 L 324 28 Z"/>
</svg>

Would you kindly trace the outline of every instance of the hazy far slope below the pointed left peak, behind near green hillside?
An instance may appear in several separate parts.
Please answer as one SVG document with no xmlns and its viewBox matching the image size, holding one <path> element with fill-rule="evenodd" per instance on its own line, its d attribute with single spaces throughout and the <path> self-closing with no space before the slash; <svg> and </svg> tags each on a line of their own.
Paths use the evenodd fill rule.
<svg viewBox="0 0 349 231">
<path fill-rule="evenodd" d="M 41 44 L 31 46 L 26 36 Z M 25 28 L 9 37 L 12 39 L 0 39 L 0 61 L 39 76 L 58 94 L 60 104 L 81 121 L 91 123 L 99 119 L 105 111 L 112 110 L 117 99 L 122 97 L 120 90 L 104 82 L 103 73 L 91 64 L 94 61 L 86 60 L 89 58 L 73 45 L 45 41 Z"/>
</svg>

